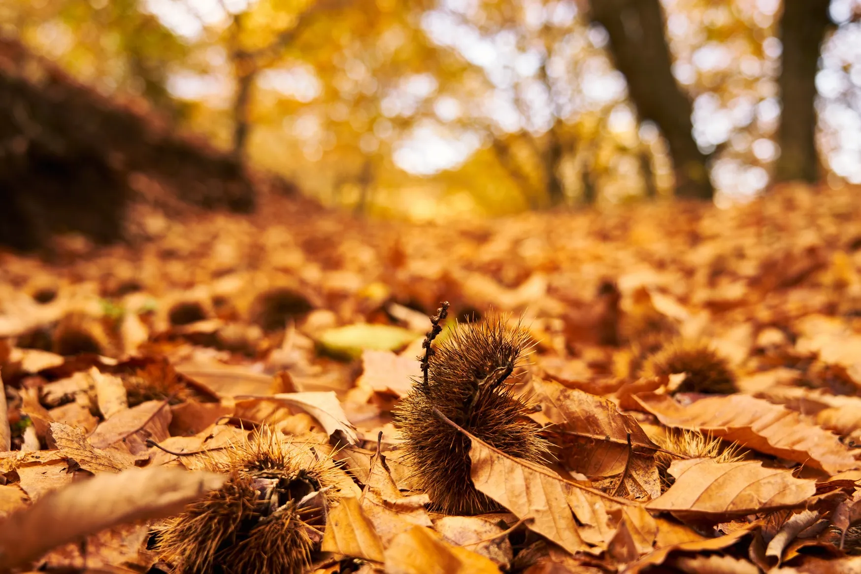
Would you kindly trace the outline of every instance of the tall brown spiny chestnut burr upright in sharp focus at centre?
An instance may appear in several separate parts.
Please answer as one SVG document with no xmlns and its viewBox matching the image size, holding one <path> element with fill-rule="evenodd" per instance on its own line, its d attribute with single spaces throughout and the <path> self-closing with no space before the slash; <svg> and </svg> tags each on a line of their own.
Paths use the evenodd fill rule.
<svg viewBox="0 0 861 574">
<path fill-rule="evenodd" d="M 428 334 L 428 344 L 435 333 Z M 428 353 L 424 380 L 396 409 L 406 459 L 437 510 L 474 515 L 500 507 L 475 489 L 469 439 L 434 409 L 511 456 L 540 462 L 548 454 L 526 418 L 530 407 L 507 381 L 529 340 L 523 328 L 510 328 L 500 316 L 460 325 Z"/>
</svg>

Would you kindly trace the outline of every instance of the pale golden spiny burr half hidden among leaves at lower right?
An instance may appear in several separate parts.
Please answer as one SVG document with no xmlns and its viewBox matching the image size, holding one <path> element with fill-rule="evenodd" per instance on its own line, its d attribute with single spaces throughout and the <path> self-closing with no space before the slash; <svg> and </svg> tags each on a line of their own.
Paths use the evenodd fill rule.
<svg viewBox="0 0 861 574">
<path fill-rule="evenodd" d="M 674 460 L 714 459 L 715 462 L 728 463 L 744 460 L 747 455 L 738 443 L 692 430 L 668 428 L 663 435 L 655 438 L 655 442 L 663 449 L 654 453 L 654 462 L 658 466 L 660 483 L 664 490 L 676 481 L 669 473 Z"/>
</svg>

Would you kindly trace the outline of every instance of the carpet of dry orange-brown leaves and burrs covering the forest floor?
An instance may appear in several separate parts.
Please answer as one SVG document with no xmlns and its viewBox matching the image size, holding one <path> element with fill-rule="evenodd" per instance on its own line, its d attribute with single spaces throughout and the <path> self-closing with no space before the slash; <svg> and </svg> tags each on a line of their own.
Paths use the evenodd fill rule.
<svg viewBox="0 0 861 574">
<path fill-rule="evenodd" d="M 858 571 L 859 192 L 3 254 L 0 571 Z"/>
</svg>

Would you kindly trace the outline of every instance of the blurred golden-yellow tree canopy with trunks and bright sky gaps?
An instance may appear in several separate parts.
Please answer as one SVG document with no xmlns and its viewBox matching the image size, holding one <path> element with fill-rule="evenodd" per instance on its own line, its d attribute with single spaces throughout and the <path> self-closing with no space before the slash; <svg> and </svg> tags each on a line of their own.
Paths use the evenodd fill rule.
<svg viewBox="0 0 861 574">
<path fill-rule="evenodd" d="M 0 0 L 0 16 L 102 92 L 381 214 L 861 183 L 858 0 Z"/>
</svg>

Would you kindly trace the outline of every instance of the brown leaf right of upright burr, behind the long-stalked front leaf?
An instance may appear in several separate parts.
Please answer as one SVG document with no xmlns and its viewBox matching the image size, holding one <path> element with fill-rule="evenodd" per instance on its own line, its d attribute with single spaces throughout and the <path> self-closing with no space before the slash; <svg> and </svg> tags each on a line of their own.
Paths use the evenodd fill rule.
<svg viewBox="0 0 861 574">
<path fill-rule="evenodd" d="M 603 396 L 559 383 L 535 377 L 532 388 L 543 414 L 555 423 L 549 430 L 562 437 L 561 461 L 568 470 L 601 477 L 609 485 L 615 481 L 617 486 L 624 478 L 629 494 L 660 496 L 660 477 L 654 463 L 658 446 L 634 417 L 620 413 L 616 404 Z M 629 464 L 629 456 L 637 459 L 637 464 Z"/>
</svg>

